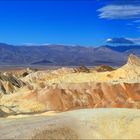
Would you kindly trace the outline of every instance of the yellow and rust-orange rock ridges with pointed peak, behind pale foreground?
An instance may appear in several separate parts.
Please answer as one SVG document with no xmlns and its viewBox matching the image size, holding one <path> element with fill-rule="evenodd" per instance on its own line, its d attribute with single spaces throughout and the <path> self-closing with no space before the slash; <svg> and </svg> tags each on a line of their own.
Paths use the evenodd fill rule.
<svg viewBox="0 0 140 140">
<path fill-rule="evenodd" d="M 139 61 L 130 55 L 127 64 L 107 72 L 90 72 L 86 67 L 31 72 L 19 79 L 26 85 L 1 97 L 0 108 L 7 113 L 140 108 Z"/>
</svg>

